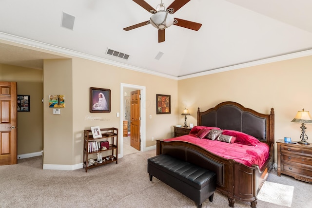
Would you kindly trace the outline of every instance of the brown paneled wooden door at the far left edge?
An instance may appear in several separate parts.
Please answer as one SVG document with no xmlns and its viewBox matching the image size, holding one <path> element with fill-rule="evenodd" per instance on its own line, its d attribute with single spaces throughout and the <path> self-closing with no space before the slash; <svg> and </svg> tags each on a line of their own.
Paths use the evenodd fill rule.
<svg viewBox="0 0 312 208">
<path fill-rule="evenodd" d="M 0 165 L 17 164 L 17 84 L 0 81 Z"/>
</svg>

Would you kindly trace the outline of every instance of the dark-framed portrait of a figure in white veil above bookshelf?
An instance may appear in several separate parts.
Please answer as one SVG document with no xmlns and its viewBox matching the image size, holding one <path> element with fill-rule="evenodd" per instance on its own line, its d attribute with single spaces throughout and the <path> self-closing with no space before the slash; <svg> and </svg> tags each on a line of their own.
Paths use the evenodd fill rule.
<svg viewBox="0 0 312 208">
<path fill-rule="evenodd" d="M 111 112 L 111 90 L 90 87 L 90 112 L 109 113 Z"/>
</svg>

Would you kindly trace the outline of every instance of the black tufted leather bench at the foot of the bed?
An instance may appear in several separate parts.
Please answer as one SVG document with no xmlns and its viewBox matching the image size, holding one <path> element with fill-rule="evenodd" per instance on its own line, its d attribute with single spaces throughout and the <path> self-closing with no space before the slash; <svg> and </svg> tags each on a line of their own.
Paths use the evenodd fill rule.
<svg viewBox="0 0 312 208">
<path fill-rule="evenodd" d="M 189 197 L 201 208 L 209 197 L 213 201 L 216 174 L 167 154 L 159 154 L 147 159 L 150 181 L 153 176 Z"/>
</svg>

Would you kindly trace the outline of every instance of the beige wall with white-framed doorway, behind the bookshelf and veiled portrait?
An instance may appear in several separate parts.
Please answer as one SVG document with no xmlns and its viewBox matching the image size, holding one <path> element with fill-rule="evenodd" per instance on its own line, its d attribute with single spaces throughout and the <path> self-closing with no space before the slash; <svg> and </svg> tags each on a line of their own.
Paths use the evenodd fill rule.
<svg viewBox="0 0 312 208">
<path fill-rule="evenodd" d="M 120 83 L 146 87 L 146 147 L 156 145 L 152 137 L 170 138 L 177 122 L 177 81 L 80 58 L 73 59 L 74 164 L 82 161 L 83 130 L 91 126 L 116 127 L 122 133 Z M 90 87 L 111 89 L 111 113 L 89 112 Z M 171 95 L 171 114 L 156 114 L 156 94 Z M 122 101 L 123 102 L 123 101 Z M 149 118 L 152 115 L 152 119 Z M 122 134 L 121 134 L 122 135 Z M 119 151 L 120 152 L 120 151 Z"/>
</svg>

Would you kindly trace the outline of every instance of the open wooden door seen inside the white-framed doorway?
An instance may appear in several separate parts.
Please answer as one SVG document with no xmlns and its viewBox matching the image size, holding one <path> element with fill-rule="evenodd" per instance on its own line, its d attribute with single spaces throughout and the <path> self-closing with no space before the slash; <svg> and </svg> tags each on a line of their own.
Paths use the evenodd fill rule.
<svg viewBox="0 0 312 208">
<path fill-rule="evenodd" d="M 130 145 L 140 150 L 140 90 L 131 92 Z"/>
</svg>

